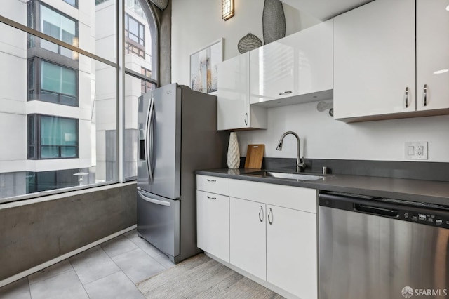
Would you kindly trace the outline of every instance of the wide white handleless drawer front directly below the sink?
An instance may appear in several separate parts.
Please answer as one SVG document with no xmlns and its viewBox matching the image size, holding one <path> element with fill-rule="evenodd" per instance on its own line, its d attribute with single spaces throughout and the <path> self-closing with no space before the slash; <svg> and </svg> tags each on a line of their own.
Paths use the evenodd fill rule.
<svg viewBox="0 0 449 299">
<path fill-rule="evenodd" d="M 229 196 L 316 213 L 316 190 L 309 188 L 229 180 Z"/>
</svg>

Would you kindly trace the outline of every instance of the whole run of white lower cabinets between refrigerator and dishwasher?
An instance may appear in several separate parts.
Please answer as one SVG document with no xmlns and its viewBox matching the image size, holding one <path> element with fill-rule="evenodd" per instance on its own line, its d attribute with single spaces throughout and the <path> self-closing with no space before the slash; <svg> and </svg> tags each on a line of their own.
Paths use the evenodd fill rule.
<svg viewBox="0 0 449 299">
<path fill-rule="evenodd" d="M 288 298 L 318 298 L 316 190 L 201 175 L 197 183 L 207 190 L 196 193 L 199 248 Z"/>
</svg>

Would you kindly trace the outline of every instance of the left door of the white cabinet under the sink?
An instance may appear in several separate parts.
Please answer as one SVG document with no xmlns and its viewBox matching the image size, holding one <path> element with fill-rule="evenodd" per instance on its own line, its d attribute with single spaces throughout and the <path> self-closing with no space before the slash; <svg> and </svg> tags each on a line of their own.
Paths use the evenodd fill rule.
<svg viewBox="0 0 449 299">
<path fill-rule="evenodd" d="M 229 201 L 230 263 L 266 280 L 265 205 L 234 197 Z"/>
</svg>

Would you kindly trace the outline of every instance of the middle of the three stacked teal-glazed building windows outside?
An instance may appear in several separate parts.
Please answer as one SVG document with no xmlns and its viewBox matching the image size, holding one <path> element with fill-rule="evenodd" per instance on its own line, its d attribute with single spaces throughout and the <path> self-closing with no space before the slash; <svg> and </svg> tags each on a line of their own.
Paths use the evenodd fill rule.
<svg viewBox="0 0 449 299">
<path fill-rule="evenodd" d="M 78 71 L 32 58 L 28 62 L 28 100 L 78 107 Z"/>
</svg>

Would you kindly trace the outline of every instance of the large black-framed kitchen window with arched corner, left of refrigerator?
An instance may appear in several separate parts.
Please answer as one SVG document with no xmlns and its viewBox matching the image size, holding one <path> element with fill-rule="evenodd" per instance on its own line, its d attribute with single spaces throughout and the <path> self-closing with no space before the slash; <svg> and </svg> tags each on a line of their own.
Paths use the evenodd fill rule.
<svg viewBox="0 0 449 299">
<path fill-rule="evenodd" d="M 0 204 L 44 190 L 135 180 L 137 99 L 156 88 L 158 74 L 149 2 L 3 4 L 0 65 L 8 72 L 0 90 Z M 128 50 L 118 55 L 118 48 Z"/>
</svg>

